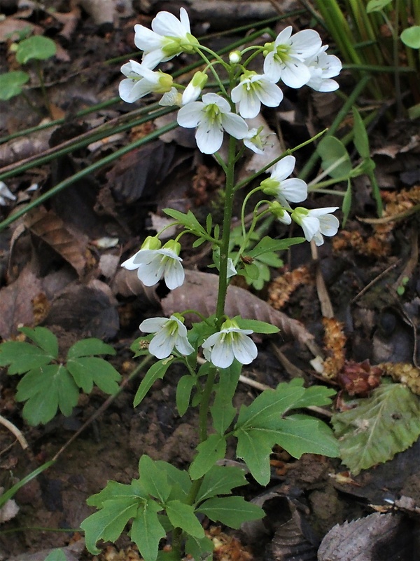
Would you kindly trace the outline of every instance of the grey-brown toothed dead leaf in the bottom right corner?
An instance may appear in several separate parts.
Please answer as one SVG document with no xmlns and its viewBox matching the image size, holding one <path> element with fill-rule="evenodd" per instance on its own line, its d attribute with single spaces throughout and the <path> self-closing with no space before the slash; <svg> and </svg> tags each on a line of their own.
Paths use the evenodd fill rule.
<svg viewBox="0 0 420 561">
<path fill-rule="evenodd" d="M 410 534 L 402 515 L 373 513 L 330 529 L 318 549 L 318 561 L 412 559 L 416 554 Z"/>
</svg>

